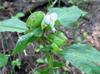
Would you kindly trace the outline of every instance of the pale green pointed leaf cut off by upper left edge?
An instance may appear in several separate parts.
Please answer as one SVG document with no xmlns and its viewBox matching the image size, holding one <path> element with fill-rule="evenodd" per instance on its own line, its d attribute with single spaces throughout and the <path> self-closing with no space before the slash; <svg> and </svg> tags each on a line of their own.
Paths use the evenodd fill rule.
<svg viewBox="0 0 100 74">
<path fill-rule="evenodd" d="M 20 21 L 18 18 L 11 18 L 8 20 L 0 21 L 0 32 L 25 32 L 28 28 L 26 23 Z"/>
</svg>

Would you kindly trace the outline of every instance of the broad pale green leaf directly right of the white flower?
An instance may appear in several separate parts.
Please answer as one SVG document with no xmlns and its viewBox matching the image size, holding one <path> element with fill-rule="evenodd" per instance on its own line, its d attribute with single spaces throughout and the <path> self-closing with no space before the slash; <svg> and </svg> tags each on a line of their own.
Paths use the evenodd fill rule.
<svg viewBox="0 0 100 74">
<path fill-rule="evenodd" d="M 80 17 L 85 16 L 87 13 L 79 9 L 77 6 L 63 7 L 63 8 L 51 8 L 49 13 L 55 12 L 58 14 L 58 20 L 61 25 L 69 26 L 78 21 Z"/>
</svg>

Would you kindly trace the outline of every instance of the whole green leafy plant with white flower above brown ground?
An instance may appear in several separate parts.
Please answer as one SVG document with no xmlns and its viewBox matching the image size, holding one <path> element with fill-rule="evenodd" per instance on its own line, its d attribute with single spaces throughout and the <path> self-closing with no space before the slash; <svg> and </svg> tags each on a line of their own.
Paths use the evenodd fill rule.
<svg viewBox="0 0 100 74">
<path fill-rule="evenodd" d="M 36 69 L 34 74 L 57 74 L 54 70 L 59 71 L 64 63 L 55 59 L 54 54 L 60 55 L 84 73 L 99 74 L 100 52 L 89 44 L 75 43 L 67 46 L 68 38 L 59 29 L 59 26 L 76 26 L 75 23 L 86 14 L 87 12 L 77 6 L 72 6 L 50 8 L 47 14 L 42 11 L 33 12 L 26 22 L 16 17 L 0 21 L 0 32 L 24 33 L 19 37 L 12 54 L 0 53 L 0 67 L 7 64 L 7 58 L 10 55 L 15 56 L 22 53 L 31 43 L 37 41 L 40 42 L 40 45 L 34 50 L 45 53 L 45 57 L 39 58 L 37 62 L 46 63 L 48 66 L 45 69 Z M 16 59 L 12 62 L 13 66 L 15 64 L 20 66 L 21 63 Z"/>
</svg>

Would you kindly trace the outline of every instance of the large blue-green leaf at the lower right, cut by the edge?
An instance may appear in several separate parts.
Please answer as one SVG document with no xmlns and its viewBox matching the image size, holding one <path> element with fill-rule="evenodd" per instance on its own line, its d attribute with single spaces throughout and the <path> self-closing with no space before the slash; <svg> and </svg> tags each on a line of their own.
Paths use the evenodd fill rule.
<svg viewBox="0 0 100 74">
<path fill-rule="evenodd" d="M 64 58 L 86 74 L 100 74 L 100 52 L 89 44 L 65 48 Z"/>
</svg>

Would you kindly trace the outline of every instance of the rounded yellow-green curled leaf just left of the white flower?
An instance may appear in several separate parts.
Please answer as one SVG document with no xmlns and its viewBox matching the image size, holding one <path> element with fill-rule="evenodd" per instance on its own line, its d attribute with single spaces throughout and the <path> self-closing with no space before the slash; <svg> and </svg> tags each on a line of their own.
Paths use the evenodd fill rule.
<svg viewBox="0 0 100 74">
<path fill-rule="evenodd" d="M 41 11 L 37 11 L 37 12 L 32 13 L 26 21 L 27 26 L 30 29 L 34 29 L 34 28 L 41 26 L 41 23 L 42 23 L 44 16 L 45 16 L 45 14 Z"/>
</svg>

